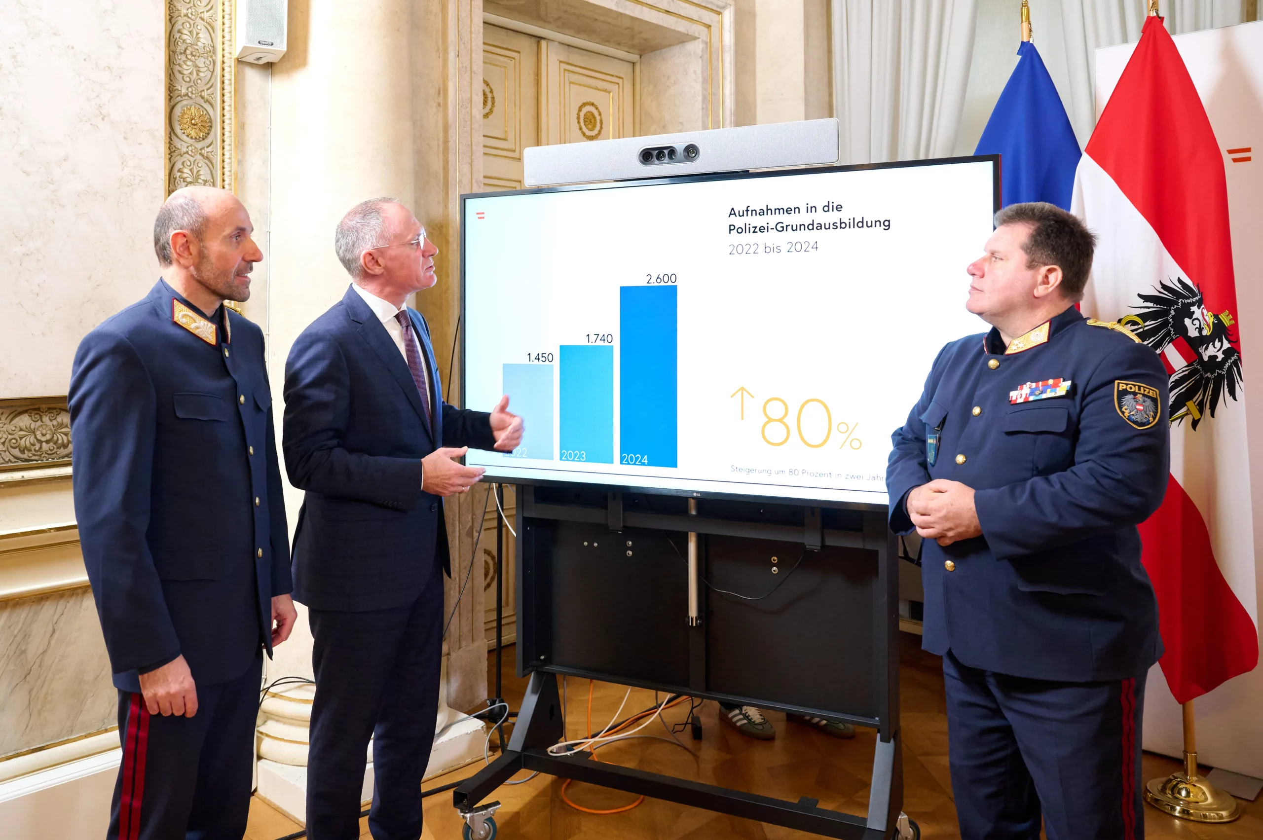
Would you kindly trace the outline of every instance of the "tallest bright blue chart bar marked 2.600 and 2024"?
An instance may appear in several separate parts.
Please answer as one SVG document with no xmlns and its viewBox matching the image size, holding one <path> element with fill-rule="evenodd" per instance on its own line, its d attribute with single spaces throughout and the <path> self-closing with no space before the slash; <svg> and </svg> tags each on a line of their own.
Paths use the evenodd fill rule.
<svg viewBox="0 0 1263 840">
<path fill-rule="evenodd" d="M 619 292 L 619 464 L 677 466 L 677 288 Z"/>
</svg>

